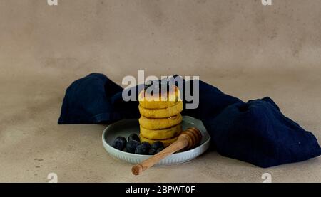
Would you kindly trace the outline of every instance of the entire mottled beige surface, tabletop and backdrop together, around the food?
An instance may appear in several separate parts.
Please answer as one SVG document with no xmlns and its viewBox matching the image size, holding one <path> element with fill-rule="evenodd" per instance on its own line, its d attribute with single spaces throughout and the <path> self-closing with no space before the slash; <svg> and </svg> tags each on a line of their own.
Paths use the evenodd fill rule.
<svg viewBox="0 0 321 197">
<path fill-rule="evenodd" d="M 319 0 L 0 0 L 0 181 L 321 181 L 321 157 L 260 169 L 207 152 L 142 176 L 111 158 L 104 125 L 56 124 L 92 72 L 200 75 L 243 100 L 272 97 L 321 142 Z"/>
</svg>

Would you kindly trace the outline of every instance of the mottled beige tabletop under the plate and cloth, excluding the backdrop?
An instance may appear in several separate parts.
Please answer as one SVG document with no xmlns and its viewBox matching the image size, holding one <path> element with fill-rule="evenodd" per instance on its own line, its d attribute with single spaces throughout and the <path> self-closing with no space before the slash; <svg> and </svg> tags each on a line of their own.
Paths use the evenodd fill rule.
<svg viewBox="0 0 321 197">
<path fill-rule="evenodd" d="M 0 181 L 45 182 L 51 172 L 61 182 L 261 182 L 265 172 L 275 182 L 321 181 L 321 157 L 261 169 L 215 151 L 185 164 L 153 167 L 141 176 L 133 176 L 131 164 L 113 159 L 103 149 L 101 134 L 106 125 L 57 124 L 64 88 L 71 80 L 36 75 L 0 78 L 4 84 L 1 92 L 6 92 L 0 97 Z M 223 77 L 211 83 L 245 100 L 268 92 L 282 112 L 321 141 L 320 78 L 311 75 L 299 81 L 280 75 L 273 83 L 267 83 L 269 77 L 265 74 L 250 80 L 243 78 Z"/>
</svg>

